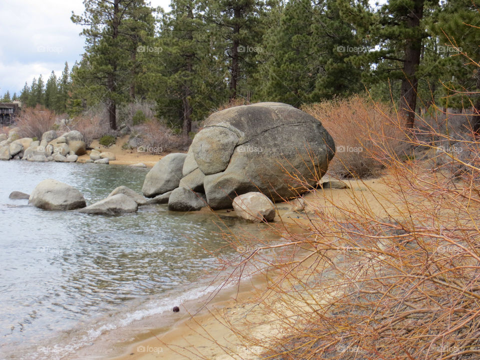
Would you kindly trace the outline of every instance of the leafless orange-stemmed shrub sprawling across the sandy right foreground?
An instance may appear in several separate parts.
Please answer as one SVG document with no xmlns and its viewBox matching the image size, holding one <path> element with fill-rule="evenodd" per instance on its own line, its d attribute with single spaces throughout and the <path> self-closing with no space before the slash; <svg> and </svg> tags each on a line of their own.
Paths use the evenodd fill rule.
<svg viewBox="0 0 480 360">
<path fill-rule="evenodd" d="M 460 157 L 418 140 L 458 142 L 447 134 L 397 130 L 411 147 L 438 151 L 463 171 L 452 177 L 428 158 L 400 159 L 392 138 L 370 132 L 381 179 L 352 180 L 341 201 L 338 192 L 316 191 L 294 228 L 269 225 L 276 242 L 229 237 L 241 246 L 225 263 L 235 266 L 229 280 L 268 275 L 255 306 L 275 319 L 272 330 L 258 335 L 224 320 L 261 358 L 479 357 L 480 142 L 465 136 Z"/>
</svg>

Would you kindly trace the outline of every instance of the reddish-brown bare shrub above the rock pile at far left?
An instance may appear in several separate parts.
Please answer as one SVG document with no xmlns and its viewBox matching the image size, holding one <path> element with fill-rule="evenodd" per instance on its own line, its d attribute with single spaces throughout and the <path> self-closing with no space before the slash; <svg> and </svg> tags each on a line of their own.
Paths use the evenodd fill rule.
<svg viewBox="0 0 480 360">
<path fill-rule="evenodd" d="M 55 113 L 41 105 L 23 109 L 16 119 L 20 136 L 38 139 L 41 138 L 43 132 L 51 130 L 54 123 Z"/>
</svg>

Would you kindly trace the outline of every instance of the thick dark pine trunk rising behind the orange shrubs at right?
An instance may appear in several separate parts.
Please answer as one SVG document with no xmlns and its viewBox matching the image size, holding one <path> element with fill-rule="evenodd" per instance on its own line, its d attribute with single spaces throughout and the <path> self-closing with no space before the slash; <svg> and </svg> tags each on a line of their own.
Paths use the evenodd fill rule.
<svg viewBox="0 0 480 360">
<path fill-rule="evenodd" d="M 423 16 L 423 2 L 424 0 L 415 0 L 413 8 L 408 14 L 406 26 L 414 30 L 420 25 L 420 20 Z M 406 120 L 406 127 L 413 127 L 416 109 L 416 97 L 418 79 L 415 72 L 420 64 L 421 54 L 421 33 L 416 34 L 415 37 L 406 40 L 405 44 L 405 59 L 403 62 L 404 78 L 401 80 L 400 88 L 400 114 Z"/>
</svg>

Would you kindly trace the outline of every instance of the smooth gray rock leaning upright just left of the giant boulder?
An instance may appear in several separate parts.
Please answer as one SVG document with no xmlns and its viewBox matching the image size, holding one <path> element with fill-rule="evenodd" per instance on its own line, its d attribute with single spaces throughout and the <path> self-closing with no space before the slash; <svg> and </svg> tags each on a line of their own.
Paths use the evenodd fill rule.
<svg viewBox="0 0 480 360">
<path fill-rule="evenodd" d="M 185 157 L 184 153 L 170 153 L 161 158 L 145 176 L 143 195 L 154 197 L 178 187 Z"/>
</svg>

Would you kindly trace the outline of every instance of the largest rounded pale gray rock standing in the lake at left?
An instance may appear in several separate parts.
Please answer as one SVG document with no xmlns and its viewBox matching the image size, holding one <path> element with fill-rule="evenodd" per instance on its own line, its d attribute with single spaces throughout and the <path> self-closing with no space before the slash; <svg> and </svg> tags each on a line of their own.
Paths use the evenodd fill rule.
<svg viewBox="0 0 480 360">
<path fill-rule="evenodd" d="M 54 179 L 46 179 L 36 185 L 28 203 L 45 210 L 73 210 L 86 205 L 80 191 Z"/>
</svg>

